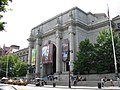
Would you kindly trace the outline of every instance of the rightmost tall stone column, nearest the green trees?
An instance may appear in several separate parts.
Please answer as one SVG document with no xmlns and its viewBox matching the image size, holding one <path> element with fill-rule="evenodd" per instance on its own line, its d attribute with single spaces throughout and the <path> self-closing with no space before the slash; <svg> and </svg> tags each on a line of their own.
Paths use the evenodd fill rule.
<svg viewBox="0 0 120 90">
<path fill-rule="evenodd" d="M 75 59 L 75 21 L 74 21 L 74 17 L 72 14 L 72 11 L 70 11 L 69 13 L 69 27 L 68 27 L 68 31 L 69 31 L 69 53 L 70 53 L 70 71 L 73 71 L 73 61 Z"/>
</svg>

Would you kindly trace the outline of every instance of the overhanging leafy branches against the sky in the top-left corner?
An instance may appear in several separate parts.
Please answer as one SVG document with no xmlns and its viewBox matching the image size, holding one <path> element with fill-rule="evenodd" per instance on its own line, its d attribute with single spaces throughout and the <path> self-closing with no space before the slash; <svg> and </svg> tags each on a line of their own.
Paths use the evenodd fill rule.
<svg viewBox="0 0 120 90">
<path fill-rule="evenodd" d="M 0 0 L 0 20 L 3 18 L 3 14 L 2 13 L 5 13 L 7 12 L 7 6 L 9 4 L 9 2 L 12 2 L 12 0 Z M 4 25 L 6 24 L 6 22 L 2 22 L 0 21 L 0 31 L 3 31 L 5 30 L 4 29 Z"/>
</svg>

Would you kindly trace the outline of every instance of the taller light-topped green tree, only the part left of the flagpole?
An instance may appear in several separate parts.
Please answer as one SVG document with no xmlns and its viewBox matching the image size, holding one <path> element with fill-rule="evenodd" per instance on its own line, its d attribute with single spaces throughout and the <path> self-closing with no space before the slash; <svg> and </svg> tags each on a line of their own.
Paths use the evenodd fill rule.
<svg viewBox="0 0 120 90">
<path fill-rule="evenodd" d="M 97 37 L 95 44 L 95 65 L 97 73 L 106 73 L 114 71 L 114 60 L 112 51 L 111 33 L 109 30 L 103 30 Z"/>
</svg>

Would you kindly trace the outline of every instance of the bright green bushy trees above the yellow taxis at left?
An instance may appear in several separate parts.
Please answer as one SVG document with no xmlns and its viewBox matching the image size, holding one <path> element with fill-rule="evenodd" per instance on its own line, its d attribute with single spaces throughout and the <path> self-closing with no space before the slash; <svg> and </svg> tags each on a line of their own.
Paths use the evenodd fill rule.
<svg viewBox="0 0 120 90">
<path fill-rule="evenodd" d="M 8 62 L 8 76 L 25 76 L 27 73 L 27 64 L 22 62 L 15 54 L 8 54 L 0 57 L 0 77 L 6 75 Z"/>
</svg>

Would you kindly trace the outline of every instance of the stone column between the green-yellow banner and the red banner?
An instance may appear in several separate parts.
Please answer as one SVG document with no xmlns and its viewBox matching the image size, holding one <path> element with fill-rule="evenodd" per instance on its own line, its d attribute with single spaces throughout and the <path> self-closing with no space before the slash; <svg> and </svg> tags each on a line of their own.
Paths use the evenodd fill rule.
<svg viewBox="0 0 120 90">
<path fill-rule="evenodd" d="M 41 45 L 42 45 L 42 34 L 38 30 L 36 34 L 36 76 L 37 77 L 41 77 L 41 73 L 42 73 L 40 72 L 40 62 L 42 61 L 41 60 L 41 56 L 42 56 Z"/>
</svg>

